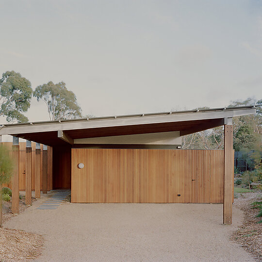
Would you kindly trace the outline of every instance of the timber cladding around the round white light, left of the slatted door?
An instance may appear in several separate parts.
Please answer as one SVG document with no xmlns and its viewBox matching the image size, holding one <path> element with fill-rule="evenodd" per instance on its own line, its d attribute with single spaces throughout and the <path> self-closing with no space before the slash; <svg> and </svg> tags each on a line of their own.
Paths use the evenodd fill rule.
<svg viewBox="0 0 262 262">
<path fill-rule="evenodd" d="M 191 150 L 72 148 L 72 202 L 188 203 L 190 162 Z"/>
</svg>

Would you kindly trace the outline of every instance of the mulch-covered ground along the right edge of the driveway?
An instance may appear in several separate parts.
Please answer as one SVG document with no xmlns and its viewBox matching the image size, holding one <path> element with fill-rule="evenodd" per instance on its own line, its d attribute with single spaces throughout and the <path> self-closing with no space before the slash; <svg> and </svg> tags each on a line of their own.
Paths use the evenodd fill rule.
<svg viewBox="0 0 262 262">
<path fill-rule="evenodd" d="M 247 252 L 251 253 L 257 261 L 262 261 L 262 224 L 256 217 L 257 209 L 252 209 L 251 203 L 261 201 L 262 193 L 243 193 L 234 200 L 234 206 L 244 211 L 243 224 L 235 231 L 231 240 L 239 243 Z"/>
</svg>

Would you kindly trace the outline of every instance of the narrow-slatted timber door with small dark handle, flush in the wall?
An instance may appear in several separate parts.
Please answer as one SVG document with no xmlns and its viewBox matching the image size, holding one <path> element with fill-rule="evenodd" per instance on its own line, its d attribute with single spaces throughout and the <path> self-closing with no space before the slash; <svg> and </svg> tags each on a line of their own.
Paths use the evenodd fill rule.
<svg viewBox="0 0 262 262">
<path fill-rule="evenodd" d="M 210 151 L 191 152 L 191 202 L 210 203 Z"/>
</svg>

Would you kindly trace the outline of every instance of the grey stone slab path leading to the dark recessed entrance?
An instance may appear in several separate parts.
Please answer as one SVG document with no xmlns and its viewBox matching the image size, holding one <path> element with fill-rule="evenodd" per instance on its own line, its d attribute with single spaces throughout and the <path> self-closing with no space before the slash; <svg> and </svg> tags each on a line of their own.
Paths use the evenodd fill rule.
<svg viewBox="0 0 262 262">
<path fill-rule="evenodd" d="M 48 194 L 48 199 L 42 203 L 37 209 L 57 209 L 63 200 L 71 193 L 70 190 L 66 191 L 51 191 Z"/>
</svg>

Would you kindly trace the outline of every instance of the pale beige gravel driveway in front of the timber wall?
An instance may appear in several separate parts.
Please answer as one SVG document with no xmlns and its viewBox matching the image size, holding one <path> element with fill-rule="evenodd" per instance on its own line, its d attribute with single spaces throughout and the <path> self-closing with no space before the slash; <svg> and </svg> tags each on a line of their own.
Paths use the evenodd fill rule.
<svg viewBox="0 0 262 262">
<path fill-rule="evenodd" d="M 43 234 L 37 261 L 254 261 L 229 236 L 242 212 L 233 209 L 233 225 L 222 225 L 221 204 L 71 204 L 37 209 L 33 203 L 4 227 Z"/>
</svg>

